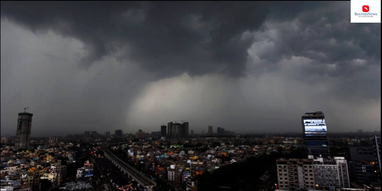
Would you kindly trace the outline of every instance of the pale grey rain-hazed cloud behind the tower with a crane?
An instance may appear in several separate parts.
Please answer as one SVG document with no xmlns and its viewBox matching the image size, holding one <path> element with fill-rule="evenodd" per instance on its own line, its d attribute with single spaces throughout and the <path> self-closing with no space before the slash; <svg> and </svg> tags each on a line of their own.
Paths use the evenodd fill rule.
<svg viewBox="0 0 382 191">
<path fill-rule="evenodd" d="M 15 132 L 17 113 L 24 107 L 34 114 L 32 136 L 126 127 L 129 100 L 149 74 L 112 57 L 78 70 L 86 52 L 82 42 L 1 24 L 2 134 Z"/>
</svg>

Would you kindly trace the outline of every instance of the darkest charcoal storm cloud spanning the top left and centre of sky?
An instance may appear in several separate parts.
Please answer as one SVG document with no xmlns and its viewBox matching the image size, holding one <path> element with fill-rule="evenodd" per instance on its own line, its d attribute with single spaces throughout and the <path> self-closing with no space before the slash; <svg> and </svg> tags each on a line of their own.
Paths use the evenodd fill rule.
<svg viewBox="0 0 382 191">
<path fill-rule="evenodd" d="M 1 2 L 3 17 L 33 31 L 53 29 L 87 45 L 82 66 L 107 55 L 138 62 L 161 77 L 241 76 L 252 37 L 272 18 L 293 18 L 321 2 Z M 282 14 L 280 14 L 282 12 Z"/>
</svg>

